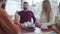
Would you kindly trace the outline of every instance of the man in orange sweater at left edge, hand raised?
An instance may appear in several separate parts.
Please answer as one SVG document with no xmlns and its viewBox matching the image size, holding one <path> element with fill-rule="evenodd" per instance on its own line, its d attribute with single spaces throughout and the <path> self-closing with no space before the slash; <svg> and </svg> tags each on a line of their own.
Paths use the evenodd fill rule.
<svg viewBox="0 0 60 34">
<path fill-rule="evenodd" d="M 6 0 L 0 0 L 0 34 L 18 34 L 19 31 L 19 17 L 16 15 L 15 22 L 13 22 L 7 12 L 1 8 Z"/>
</svg>

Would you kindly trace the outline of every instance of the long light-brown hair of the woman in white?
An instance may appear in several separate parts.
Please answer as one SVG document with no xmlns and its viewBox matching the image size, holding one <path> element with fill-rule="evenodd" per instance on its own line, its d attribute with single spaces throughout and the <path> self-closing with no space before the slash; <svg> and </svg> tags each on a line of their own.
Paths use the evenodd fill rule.
<svg viewBox="0 0 60 34">
<path fill-rule="evenodd" d="M 45 13 L 46 17 L 47 17 L 47 22 L 50 21 L 50 13 L 51 13 L 51 5 L 50 2 L 48 0 L 43 1 L 43 4 L 46 2 L 46 4 L 48 4 L 48 6 L 42 6 L 42 15 Z"/>
</svg>

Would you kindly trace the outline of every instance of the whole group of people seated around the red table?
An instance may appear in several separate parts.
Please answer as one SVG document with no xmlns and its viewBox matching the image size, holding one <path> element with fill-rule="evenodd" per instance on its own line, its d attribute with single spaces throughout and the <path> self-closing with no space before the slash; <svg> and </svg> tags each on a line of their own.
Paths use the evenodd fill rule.
<svg viewBox="0 0 60 34">
<path fill-rule="evenodd" d="M 42 23 L 46 23 L 47 26 L 51 26 L 55 32 L 60 34 L 60 24 L 54 22 L 54 13 L 51 11 L 52 9 L 49 0 L 44 0 L 42 3 L 42 12 L 39 23 L 36 22 L 34 13 L 28 9 L 28 2 L 23 3 L 23 10 L 17 11 L 15 20 L 12 21 L 5 10 L 4 5 L 6 1 L 7 0 L 0 0 L 0 34 L 18 34 L 20 28 L 23 27 L 21 24 L 27 22 L 31 23 L 31 18 L 33 19 L 33 23 L 30 25 L 36 24 L 37 27 L 41 27 L 43 25 Z"/>
</svg>

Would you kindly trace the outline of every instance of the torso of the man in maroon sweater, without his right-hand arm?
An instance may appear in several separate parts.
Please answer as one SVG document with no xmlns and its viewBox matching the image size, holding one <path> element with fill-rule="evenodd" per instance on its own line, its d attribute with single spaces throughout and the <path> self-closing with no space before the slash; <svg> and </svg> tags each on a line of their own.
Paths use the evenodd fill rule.
<svg viewBox="0 0 60 34">
<path fill-rule="evenodd" d="M 31 22 L 31 11 L 21 11 L 18 14 L 20 15 L 20 23 Z"/>
</svg>

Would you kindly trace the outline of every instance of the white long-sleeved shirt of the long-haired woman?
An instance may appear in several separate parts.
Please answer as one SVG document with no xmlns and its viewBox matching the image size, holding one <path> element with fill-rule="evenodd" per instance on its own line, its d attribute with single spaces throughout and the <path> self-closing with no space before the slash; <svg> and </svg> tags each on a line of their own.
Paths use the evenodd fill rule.
<svg viewBox="0 0 60 34">
<path fill-rule="evenodd" d="M 55 13 L 54 13 L 54 11 L 51 11 L 51 13 L 50 13 L 50 21 L 49 22 L 47 22 L 47 19 L 46 19 L 46 15 L 44 14 L 44 15 L 40 15 L 40 23 L 45 23 L 46 25 L 52 25 L 52 24 L 54 24 L 54 22 L 55 22 Z"/>
</svg>

